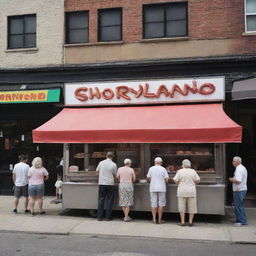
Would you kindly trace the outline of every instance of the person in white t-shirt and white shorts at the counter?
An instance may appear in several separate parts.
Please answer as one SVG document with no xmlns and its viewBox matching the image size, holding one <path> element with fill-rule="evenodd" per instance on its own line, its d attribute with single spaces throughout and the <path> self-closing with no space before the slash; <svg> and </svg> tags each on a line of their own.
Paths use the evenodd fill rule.
<svg viewBox="0 0 256 256">
<path fill-rule="evenodd" d="M 155 165 L 150 167 L 147 179 L 150 182 L 150 201 L 152 208 L 153 223 L 157 224 L 156 215 L 158 213 L 158 223 L 162 223 L 163 209 L 166 205 L 166 183 L 169 181 L 167 170 L 162 167 L 163 160 L 156 157 Z"/>
</svg>

